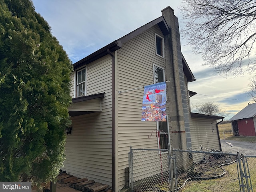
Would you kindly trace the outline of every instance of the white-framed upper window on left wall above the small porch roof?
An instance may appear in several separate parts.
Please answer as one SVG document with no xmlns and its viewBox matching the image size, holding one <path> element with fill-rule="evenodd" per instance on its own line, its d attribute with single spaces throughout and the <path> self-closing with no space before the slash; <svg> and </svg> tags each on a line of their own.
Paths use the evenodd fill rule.
<svg viewBox="0 0 256 192">
<path fill-rule="evenodd" d="M 86 68 L 76 71 L 76 96 L 86 95 Z"/>
</svg>

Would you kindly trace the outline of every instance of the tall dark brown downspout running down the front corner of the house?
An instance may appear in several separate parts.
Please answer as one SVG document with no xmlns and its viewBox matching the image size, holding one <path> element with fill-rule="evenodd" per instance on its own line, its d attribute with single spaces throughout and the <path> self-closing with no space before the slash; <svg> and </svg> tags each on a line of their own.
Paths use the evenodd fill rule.
<svg viewBox="0 0 256 192">
<path fill-rule="evenodd" d="M 116 76 L 115 76 L 115 56 L 107 50 L 112 57 L 112 191 L 116 186 Z"/>
</svg>

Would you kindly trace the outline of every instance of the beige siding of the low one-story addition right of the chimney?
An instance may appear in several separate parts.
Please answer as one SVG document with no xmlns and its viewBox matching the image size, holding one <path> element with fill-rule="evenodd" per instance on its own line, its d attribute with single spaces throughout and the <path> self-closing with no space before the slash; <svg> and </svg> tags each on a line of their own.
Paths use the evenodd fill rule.
<svg viewBox="0 0 256 192">
<path fill-rule="evenodd" d="M 200 145 L 206 148 L 203 148 L 204 151 L 220 150 L 216 120 L 190 118 L 190 134 L 193 150 L 200 150 Z M 202 160 L 203 157 L 202 154 L 195 154 L 193 160 L 197 162 Z"/>
</svg>

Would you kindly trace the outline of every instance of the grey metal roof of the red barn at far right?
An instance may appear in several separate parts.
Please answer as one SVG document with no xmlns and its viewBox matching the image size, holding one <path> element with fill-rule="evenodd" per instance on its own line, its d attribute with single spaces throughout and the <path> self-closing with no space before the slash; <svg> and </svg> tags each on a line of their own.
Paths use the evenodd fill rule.
<svg viewBox="0 0 256 192">
<path fill-rule="evenodd" d="M 235 121 L 239 119 L 246 119 L 256 116 L 256 103 L 249 104 L 243 108 L 240 112 L 235 114 L 229 121 Z"/>
</svg>

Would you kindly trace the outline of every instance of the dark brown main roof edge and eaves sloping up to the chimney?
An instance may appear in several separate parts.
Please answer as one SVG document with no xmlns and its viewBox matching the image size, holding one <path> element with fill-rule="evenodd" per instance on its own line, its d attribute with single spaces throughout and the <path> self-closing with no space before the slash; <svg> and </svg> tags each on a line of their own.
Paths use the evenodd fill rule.
<svg viewBox="0 0 256 192">
<path fill-rule="evenodd" d="M 164 17 L 161 16 L 143 26 L 141 26 L 140 28 L 128 33 L 127 35 L 119 38 L 118 40 L 113 41 L 112 43 L 104 46 L 103 48 L 97 50 L 96 52 L 88 55 L 87 57 L 81 59 L 80 61 L 76 62 L 73 64 L 74 69 L 79 68 L 85 64 L 88 64 L 90 62 L 93 62 L 105 55 L 108 54 L 108 51 L 113 52 L 116 51 L 120 48 L 122 48 L 122 44 L 124 44 L 125 42 L 131 40 L 132 38 L 134 38 L 135 36 L 138 36 L 139 34 L 141 34 L 142 32 L 150 29 L 152 26 L 158 24 L 160 30 L 162 31 L 162 33 L 164 35 L 167 35 L 169 33 L 169 28 L 166 24 L 166 21 L 164 20 Z"/>
</svg>

